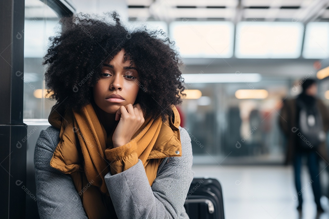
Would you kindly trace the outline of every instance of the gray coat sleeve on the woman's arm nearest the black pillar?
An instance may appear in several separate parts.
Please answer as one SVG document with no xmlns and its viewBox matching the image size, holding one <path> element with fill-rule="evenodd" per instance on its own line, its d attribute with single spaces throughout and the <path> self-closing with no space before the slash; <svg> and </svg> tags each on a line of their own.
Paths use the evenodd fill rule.
<svg viewBox="0 0 329 219">
<path fill-rule="evenodd" d="M 40 218 L 87 218 L 71 176 L 50 166 L 57 146 L 54 142 L 59 142 L 50 136 L 59 136 L 59 130 L 42 130 L 34 152 Z"/>
</svg>

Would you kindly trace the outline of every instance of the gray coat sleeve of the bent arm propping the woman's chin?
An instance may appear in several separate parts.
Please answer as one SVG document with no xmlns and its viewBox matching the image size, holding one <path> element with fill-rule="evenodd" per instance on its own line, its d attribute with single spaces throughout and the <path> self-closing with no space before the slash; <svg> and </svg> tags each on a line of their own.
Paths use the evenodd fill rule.
<svg viewBox="0 0 329 219">
<path fill-rule="evenodd" d="M 194 176 L 192 147 L 188 132 L 179 129 L 182 156 L 165 158 L 152 186 L 141 160 L 121 173 L 105 175 L 118 218 L 189 218 L 184 202 Z"/>
</svg>

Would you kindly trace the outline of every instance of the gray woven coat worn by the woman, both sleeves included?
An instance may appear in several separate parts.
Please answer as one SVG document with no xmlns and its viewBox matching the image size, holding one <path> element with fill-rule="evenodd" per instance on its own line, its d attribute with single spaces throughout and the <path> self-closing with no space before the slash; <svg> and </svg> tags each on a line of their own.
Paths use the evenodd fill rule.
<svg viewBox="0 0 329 219">
<path fill-rule="evenodd" d="M 105 176 L 118 218 L 188 219 L 184 202 L 192 182 L 192 147 L 188 132 L 179 126 L 182 156 L 167 157 L 159 165 L 157 177 L 150 186 L 139 160 L 131 168 Z M 87 218 L 81 199 L 69 174 L 50 166 L 59 143 L 60 130 L 50 126 L 42 130 L 35 149 L 38 210 L 40 218 Z"/>
</svg>

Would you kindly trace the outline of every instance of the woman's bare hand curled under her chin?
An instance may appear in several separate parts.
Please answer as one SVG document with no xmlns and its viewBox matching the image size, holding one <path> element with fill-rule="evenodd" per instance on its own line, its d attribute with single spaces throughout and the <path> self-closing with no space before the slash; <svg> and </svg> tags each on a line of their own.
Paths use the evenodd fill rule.
<svg viewBox="0 0 329 219">
<path fill-rule="evenodd" d="M 119 123 L 112 136 L 114 148 L 130 142 L 133 135 L 145 121 L 139 103 L 135 105 L 129 103 L 126 106 L 120 106 L 115 114 L 115 121 L 117 120 L 119 120 Z"/>
</svg>

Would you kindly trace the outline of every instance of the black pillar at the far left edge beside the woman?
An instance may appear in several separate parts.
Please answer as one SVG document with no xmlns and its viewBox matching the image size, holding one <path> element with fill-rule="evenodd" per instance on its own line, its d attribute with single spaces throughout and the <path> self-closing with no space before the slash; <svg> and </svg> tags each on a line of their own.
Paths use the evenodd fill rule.
<svg viewBox="0 0 329 219">
<path fill-rule="evenodd" d="M 0 218 L 25 218 L 24 0 L 0 1 Z"/>
</svg>

